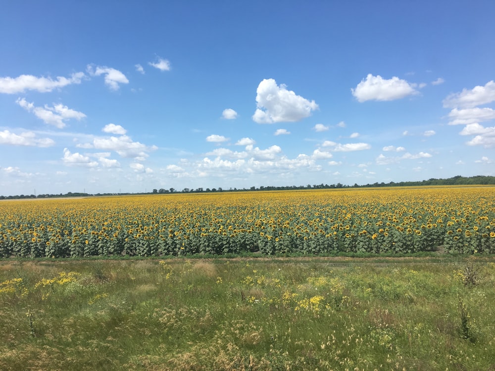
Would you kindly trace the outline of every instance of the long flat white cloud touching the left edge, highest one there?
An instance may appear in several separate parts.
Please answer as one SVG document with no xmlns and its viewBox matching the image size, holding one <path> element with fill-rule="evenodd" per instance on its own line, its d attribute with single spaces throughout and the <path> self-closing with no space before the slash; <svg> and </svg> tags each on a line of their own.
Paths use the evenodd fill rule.
<svg viewBox="0 0 495 371">
<path fill-rule="evenodd" d="M 0 77 L 0 93 L 16 94 L 27 90 L 47 93 L 70 84 L 81 84 L 83 77 L 83 72 L 73 73 L 70 78 L 58 76 L 55 80 L 50 77 L 36 77 L 33 75 L 20 75 L 15 78 Z"/>
</svg>

